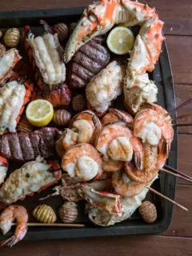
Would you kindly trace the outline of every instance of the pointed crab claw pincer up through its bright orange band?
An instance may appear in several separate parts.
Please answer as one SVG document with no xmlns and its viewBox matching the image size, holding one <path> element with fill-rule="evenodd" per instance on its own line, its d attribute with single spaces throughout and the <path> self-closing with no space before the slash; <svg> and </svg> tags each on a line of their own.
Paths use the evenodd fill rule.
<svg viewBox="0 0 192 256">
<path fill-rule="evenodd" d="M 91 38 L 105 34 L 115 24 L 114 11 L 118 0 L 102 0 L 88 6 L 66 44 L 64 62 L 69 62 L 74 53 Z"/>
</svg>

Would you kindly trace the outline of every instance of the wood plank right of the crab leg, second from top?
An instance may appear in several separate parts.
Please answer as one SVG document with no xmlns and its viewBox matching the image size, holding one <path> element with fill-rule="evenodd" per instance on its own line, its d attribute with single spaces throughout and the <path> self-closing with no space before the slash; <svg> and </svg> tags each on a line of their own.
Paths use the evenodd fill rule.
<svg viewBox="0 0 192 256">
<path fill-rule="evenodd" d="M 166 36 L 175 84 L 192 84 L 192 37 Z"/>
</svg>

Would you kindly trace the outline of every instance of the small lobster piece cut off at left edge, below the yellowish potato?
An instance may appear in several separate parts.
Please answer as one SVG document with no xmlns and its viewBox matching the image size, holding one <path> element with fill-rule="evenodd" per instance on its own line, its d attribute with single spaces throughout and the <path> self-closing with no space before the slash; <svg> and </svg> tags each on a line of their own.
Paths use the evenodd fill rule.
<svg viewBox="0 0 192 256">
<path fill-rule="evenodd" d="M 7 50 L 6 53 L 2 55 L 0 58 L 0 82 L 9 76 L 10 72 L 21 58 L 22 57 L 18 54 L 18 50 L 14 48 Z"/>
</svg>

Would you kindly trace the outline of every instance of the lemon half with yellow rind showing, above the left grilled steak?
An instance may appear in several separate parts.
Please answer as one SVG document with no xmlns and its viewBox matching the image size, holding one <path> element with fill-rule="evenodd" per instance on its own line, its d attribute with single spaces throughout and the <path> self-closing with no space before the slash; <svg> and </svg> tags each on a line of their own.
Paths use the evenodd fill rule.
<svg viewBox="0 0 192 256">
<path fill-rule="evenodd" d="M 26 108 L 26 118 L 33 126 L 46 126 L 54 115 L 52 104 L 45 99 L 37 99 Z"/>
</svg>

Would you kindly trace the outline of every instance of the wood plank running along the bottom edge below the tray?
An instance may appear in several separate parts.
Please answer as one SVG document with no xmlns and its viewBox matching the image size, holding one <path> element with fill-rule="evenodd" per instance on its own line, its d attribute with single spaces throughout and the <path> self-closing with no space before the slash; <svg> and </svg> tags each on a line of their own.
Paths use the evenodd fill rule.
<svg viewBox="0 0 192 256">
<path fill-rule="evenodd" d="M 10 250 L 1 250 L 1 256 L 154 256 L 154 252 L 156 256 L 190 256 L 192 238 L 146 235 L 21 242 Z"/>
</svg>

